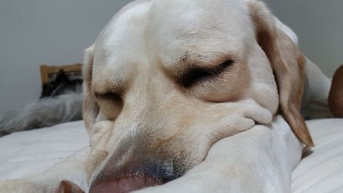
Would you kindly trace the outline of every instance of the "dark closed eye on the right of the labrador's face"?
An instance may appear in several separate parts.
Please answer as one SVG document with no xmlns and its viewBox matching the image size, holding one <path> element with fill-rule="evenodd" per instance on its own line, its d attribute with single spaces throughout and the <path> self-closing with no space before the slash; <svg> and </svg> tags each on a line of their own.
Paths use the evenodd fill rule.
<svg viewBox="0 0 343 193">
<path fill-rule="evenodd" d="M 182 86 L 185 88 L 190 88 L 199 82 L 215 78 L 223 71 L 226 71 L 228 68 L 230 68 L 233 63 L 235 63 L 233 60 L 226 60 L 225 63 L 222 63 L 217 67 L 192 67 L 181 76 L 181 78 L 178 80 L 178 83 L 182 84 Z"/>
</svg>

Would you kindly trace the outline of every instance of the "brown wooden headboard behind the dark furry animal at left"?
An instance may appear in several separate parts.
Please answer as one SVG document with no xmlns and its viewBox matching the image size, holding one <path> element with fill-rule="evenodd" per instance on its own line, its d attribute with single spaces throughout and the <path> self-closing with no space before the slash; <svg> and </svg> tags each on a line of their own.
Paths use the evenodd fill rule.
<svg viewBox="0 0 343 193">
<path fill-rule="evenodd" d="M 40 65 L 40 77 L 42 78 L 42 84 L 49 82 L 50 78 L 54 77 L 61 69 L 67 74 L 82 76 L 82 64 L 64 66 Z"/>
</svg>

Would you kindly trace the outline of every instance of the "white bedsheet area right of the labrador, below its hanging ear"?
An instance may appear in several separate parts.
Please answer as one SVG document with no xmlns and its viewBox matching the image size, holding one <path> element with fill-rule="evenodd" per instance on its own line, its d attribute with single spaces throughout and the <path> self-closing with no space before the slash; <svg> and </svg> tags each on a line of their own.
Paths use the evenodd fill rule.
<svg viewBox="0 0 343 193">
<path fill-rule="evenodd" d="M 307 122 L 315 148 L 293 172 L 294 193 L 343 193 L 343 120 Z"/>
</svg>

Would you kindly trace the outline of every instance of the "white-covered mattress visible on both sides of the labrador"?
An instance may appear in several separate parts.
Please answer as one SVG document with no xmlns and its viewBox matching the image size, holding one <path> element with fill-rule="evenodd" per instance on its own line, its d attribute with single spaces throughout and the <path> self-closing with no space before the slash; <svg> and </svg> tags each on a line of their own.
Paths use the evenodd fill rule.
<svg viewBox="0 0 343 193">
<path fill-rule="evenodd" d="M 343 192 L 343 120 L 307 122 L 316 147 L 293 172 L 294 193 Z M 83 122 L 69 122 L 0 138 L 0 181 L 39 174 L 88 146 Z"/>
</svg>

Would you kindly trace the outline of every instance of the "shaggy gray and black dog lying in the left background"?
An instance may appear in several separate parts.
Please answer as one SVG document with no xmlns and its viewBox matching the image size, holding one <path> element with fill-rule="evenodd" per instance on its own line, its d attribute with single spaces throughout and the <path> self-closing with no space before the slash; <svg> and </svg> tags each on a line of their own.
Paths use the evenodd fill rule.
<svg viewBox="0 0 343 193">
<path fill-rule="evenodd" d="M 82 79 L 69 78 L 63 70 L 43 84 L 40 99 L 21 111 L 0 114 L 0 137 L 10 133 L 82 120 Z"/>
</svg>

